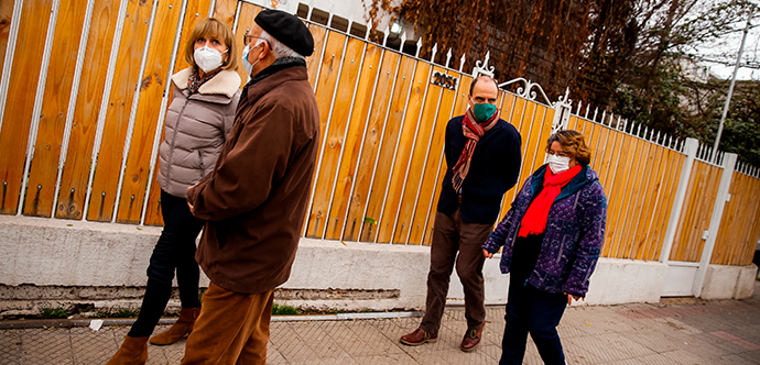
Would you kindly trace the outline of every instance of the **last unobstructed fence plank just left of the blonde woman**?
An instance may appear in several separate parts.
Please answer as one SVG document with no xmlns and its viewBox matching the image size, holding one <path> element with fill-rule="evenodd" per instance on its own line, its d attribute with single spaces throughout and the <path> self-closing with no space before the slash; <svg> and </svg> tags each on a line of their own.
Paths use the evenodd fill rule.
<svg viewBox="0 0 760 365">
<path fill-rule="evenodd" d="M 140 78 L 140 100 L 138 101 L 134 131 L 132 132 L 132 142 L 121 186 L 117 213 L 117 221 L 120 223 L 140 222 L 145 186 L 151 169 L 153 139 L 161 114 L 161 99 L 166 82 L 172 81 L 165 78 L 171 71 L 169 67 L 173 49 L 161 45 L 173 44 L 181 9 L 182 0 L 167 0 L 156 9 L 145 70 Z"/>
</svg>

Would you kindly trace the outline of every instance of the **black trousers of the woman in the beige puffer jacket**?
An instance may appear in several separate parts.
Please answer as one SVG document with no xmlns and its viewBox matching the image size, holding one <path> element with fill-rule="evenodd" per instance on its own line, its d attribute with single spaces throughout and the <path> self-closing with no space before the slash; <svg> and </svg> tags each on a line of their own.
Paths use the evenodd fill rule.
<svg viewBox="0 0 760 365">
<path fill-rule="evenodd" d="M 180 301 L 183 308 L 198 308 L 200 270 L 195 262 L 195 239 L 204 222 L 189 211 L 185 198 L 161 190 L 161 214 L 164 229 L 151 255 L 148 287 L 138 320 L 129 331 L 132 338 L 149 336 L 159 323 L 172 296 L 172 280 L 176 269 Z"/>
</svg>

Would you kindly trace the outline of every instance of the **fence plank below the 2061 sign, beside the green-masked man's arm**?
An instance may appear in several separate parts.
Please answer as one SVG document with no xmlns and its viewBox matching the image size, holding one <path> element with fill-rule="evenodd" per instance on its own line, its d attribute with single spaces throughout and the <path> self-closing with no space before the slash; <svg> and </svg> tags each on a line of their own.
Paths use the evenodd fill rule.
<svg viewBox="0 0 760 365">
<path fill-rule="evenodd" d="M 459 73 L 447 71 L 448 76 L 459 78 Z M 430 153 L 427 154 L 427 164 L 424 166 L 424 177 L 422 179 L 422 188 L 420 189 L 420 197 L 417 199 L 417 208 L 414 212 L 412 221 L 412 233 L 409 237 L 409 244 L 422 244 L 425 235 L 425 223 L 427 222 L 428 212 L 435 212 L 437 207 L 433 204 L 436 195 L 439 193 L 438 189 L 441 185 L 438 181 L 445 175 L 443 165 L 443 151 L 444 151 L 444 140 L 446 137 L 446 125 L 453 117 L 453 107 L 456 101 L 457 91 L 447 89 L 443 91 L 441 98 L 441 107 L 438 108 L 438 114 L 434 115 L 432 123 L 433 126 L 433 137 L 431 140 Z M 439 167 L 441 166 L 441 172 Z"/>
</svg>

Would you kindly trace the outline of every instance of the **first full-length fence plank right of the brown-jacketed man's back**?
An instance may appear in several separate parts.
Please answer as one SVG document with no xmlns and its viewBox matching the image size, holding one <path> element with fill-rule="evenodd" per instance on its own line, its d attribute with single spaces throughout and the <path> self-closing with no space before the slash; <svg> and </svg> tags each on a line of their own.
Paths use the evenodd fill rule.
<svg viewBox="0 0 760 365">
<path fill-rule="evenodd" d="M 326 130 L 327 123 L 329 122 L 329 110 L 330 106 L 333 103 L 333 92 L 335 91 L 336 84 L 338 81 L 338 71 L 340 69 L 340 63 L 343 59 L 343 48 L 344 44 L 346 42 L 346 36 L 337 33 L 337 32 L 329 32 L 327 35 L 327 48 L 325 48 L 325 54 L 322 58 L 322 70 L 319 75 L 319 79 L 317 81 L 317 88 L 316 88 L 316 100 L 317 100 L 317 108 L 319 108 L 319 151 L 321 151 L 321 156 L 317 158 L 322 157 L 322 151 L 327 151 L 327 147 L 329 146 L 329 143 L 327 142 L 326 145 L 323 145 L 326 143 L 326 141 L 329 141 L 330 133 L 329 131 Z M 352 91 L 352 88 L 351 88 Z M 337 100 L 337 99 L 336 99 Z M 335 129 L 335 126 L 330 126 L 330 129 Z M 327 132 L 326 132 L 327 131 Z M 343 135 L 343 134 L 340 134 Z M 317 167 L 318 169 L 314 170 L 314 182 L 317 184 L 321 179 L 324 178 L 330 178 L 329 174 L 326 176 L 323 176 L 325 174 L 326 168 L 329 169 L 330 167 L 328 164 L 325 164 L 324 161 L 317 161 Z M 321 193 L 324 193 L 324 191 L 314 191 L 314 200 L 316 201 L 318 196 Z M 328 192 L 329 193 L 329 192 Z M 326 207 L 325 207 L 326 208 Z M 310 213 L 306 220 L 307 229 L 306 229 L 306 236 L 308 237 L 322 237 L 322 230 L 319 230 L 321 224 L 325 223 L 325 215 L 326 211 L 314 209 L 314 207 L 310 207 Z"/>
</svg>

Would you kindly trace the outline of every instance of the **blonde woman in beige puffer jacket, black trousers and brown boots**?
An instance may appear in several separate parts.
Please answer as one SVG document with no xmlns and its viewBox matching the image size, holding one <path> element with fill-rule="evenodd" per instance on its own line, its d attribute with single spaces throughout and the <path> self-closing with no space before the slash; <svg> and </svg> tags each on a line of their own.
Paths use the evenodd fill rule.
<svg viewBox="0 0 760 365">
<path fill-rule="evenodd" d="M 204 222 L 189 211 L 187 188 L 214 169 L 232 128 L 240 99 L 239 64 L 232 31 L 217 19 L 200 21 L 185 45 L 191 67 L 172 76 L 174 92 L 160 147 L 158 181 L 164 229 L 148 267 L 148 286 L 140 314 L 119 351 L 108 362 L 144 364 L 148 338 L 172 295 L 176 270 L 182 310 L 172 328 L 150 339 L 167 345 L 193 331 L 200 312 L 195 239 Z"/>
</svg>

